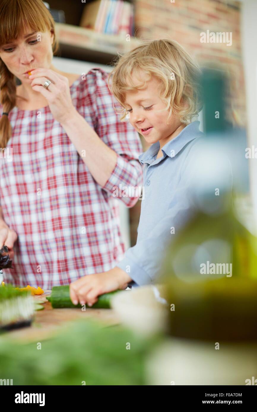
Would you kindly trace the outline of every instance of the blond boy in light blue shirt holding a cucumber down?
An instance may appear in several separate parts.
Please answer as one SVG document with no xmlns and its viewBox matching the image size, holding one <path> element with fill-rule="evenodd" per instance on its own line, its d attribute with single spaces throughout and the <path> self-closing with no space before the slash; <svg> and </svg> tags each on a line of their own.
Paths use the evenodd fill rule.
<svg viewBox="0 0 257 412">
<path fill-rule="evenodd" d="M 201 109 L 200 69 L 175 41 L 154 40 L 122 56 L 111 73 L 110 89 L 150 148 L 140 155 L 144 165 L 144 199 L 137 244 L 108 272 L 71 283 L 74 304 L 92 306 L 97 296 L 156 280 L 172 231 L 190 213 L 192 147 L 203 133 L 192 122 Z"/>
</svg>

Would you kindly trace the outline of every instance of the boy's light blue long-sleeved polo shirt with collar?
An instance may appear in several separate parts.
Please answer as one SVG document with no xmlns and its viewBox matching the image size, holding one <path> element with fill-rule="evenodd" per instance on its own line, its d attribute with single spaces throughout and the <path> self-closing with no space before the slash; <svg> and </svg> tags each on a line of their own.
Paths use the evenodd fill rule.
<svg viewBox="0 0 257 412">
<path fill-rule="evenodd" d="M 192 178 L 192 148 L 204 136 L 199 124 L 199 121 L 188 124 L 167 142 L 162 148 L 163 157 L 156 159 L 159 142 L 139 156 L 144 165 L 144 192 L 137 244 L 125 252 L 117 265 L 137 285 L 154 283 L 172 227 L 177 231 L 189 217 L 187 192 Z"/>
</svg>

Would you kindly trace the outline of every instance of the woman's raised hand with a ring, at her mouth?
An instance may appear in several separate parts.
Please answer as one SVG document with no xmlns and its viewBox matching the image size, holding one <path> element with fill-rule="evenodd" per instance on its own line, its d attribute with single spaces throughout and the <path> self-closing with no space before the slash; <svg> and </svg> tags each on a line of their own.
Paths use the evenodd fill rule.
<svg viewBox="0 0 257 412">
<path fill-rule="evenodd" d="M 31 70 L 29 78 L 32 80 L 32 89 L 39 91 L 47 99 L 52 115 L 57 122 L 65 123 L 66 119 L 71 117 L 73 112 L 76 112 L 72 104 L 67 77 L 51 69 L 38 68 Z M 47 80 L 51 80 L 52 83 L 45 89 L 44 84 Z"/>
</svg>

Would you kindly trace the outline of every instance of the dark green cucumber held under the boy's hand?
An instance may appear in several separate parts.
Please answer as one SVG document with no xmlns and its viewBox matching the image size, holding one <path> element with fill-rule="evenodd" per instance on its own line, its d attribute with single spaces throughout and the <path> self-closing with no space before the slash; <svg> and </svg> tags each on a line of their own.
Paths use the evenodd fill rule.
<svg viewBox="0 0 257 412">
<path fill-rule="evenodd" d="M 103 295 L 98 296 L 98 301 L 89 308 L 110 309 L 111 297 L 118 292 L 120 292 L 120 290 L 115 290 L 113 292 L 104 293 Z M 51 302 L 52 308 L 81 308 L 80 303 L 73 305 L 71 302 L 69 285 L 54 286 L 52 288 L 51 295 L 46 298 L 49 302 Z M 86 307 L 88 306 L 86 305 Z"/>
</svg>

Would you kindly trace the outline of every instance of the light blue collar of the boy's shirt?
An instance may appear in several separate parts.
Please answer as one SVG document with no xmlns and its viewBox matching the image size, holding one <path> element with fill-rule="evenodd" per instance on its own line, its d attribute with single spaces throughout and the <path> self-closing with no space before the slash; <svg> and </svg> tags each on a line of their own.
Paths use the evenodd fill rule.
<svg viewBox="0 0 257 412">
<path fill-rule="evenodd" d="M 199 124 L 199 120 L 188 124 L 174 139 L 167 142 L 162 148 L 163 156 L 175 157 L 187 143 L 198 136 L 203 136 L 203 133 L 199 130 Z M 139 156 L 139 162 L 141 164 L 150 164 L 159 149 L 160 143 L 153 143 L 146 152 Z"/>
</svg>

